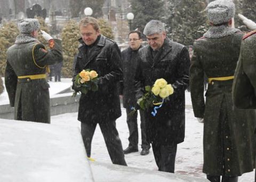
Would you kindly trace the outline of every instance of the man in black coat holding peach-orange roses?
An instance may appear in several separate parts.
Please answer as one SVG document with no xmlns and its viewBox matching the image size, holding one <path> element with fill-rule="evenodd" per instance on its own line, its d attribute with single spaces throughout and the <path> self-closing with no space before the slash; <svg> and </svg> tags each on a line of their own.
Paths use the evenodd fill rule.
<svg viewBox="0 0 256 182">
<path fill-rule="evenodd" d="M 117 83 L 122 79 L 121 52 L 117 44 L 102 36 L 98 21 L 86 17 L 79 23 L 82 38 L 79 52 L 74 59 L 73 78 L 82 70 L 94 70 L 99 75 L 99 90 L 82 93 L 79 101 L 78 120 L 81 122 L 87 157 L 91 157 L 92 137 L 99 124 L 114 164 L 126 166 L 123 147 L 116 129 L 116 119 L 121 116 Z M 79 91 L 74 83 L 73 89 Z"/>
</svg>

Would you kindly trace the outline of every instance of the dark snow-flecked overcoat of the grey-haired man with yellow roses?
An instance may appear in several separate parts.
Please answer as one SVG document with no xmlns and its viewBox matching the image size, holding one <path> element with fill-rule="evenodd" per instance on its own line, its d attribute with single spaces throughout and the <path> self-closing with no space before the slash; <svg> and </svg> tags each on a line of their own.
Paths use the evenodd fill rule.
<svg viewBox="0 0 256 182">
<path fill-rule="evenodd" d="M 153 58 L 150 46 L 139 50 L 135 74 L 137 98 L 141 97 L 146 85 L 152 86 L 157 79 L 172 84 L 174 93 L 151 115 L 153 108 L 146 111 L 146 132 L 149 142 L 162 145 L 178 144 L 185 137 L 185 90 L 189 85 L 190 59 L 185 46 L 166 38 L 162 48 Z"/>
</svg>

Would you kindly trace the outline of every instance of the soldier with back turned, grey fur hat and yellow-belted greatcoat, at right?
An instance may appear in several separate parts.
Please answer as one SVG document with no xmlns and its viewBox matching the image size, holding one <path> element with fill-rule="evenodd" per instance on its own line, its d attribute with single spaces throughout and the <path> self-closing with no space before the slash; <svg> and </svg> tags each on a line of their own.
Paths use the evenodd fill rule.
<svg viewBox="0 0 256 182">
<path fill-rule="evenodd" d="M 204 123 L 203 172 L 210 181 L 238 181 L 255 160 L 255 111 L 238 110 L 231 98 L 244 33 L 231 28 L 235 4 L 217 0 L 206 8 L 211 28 L 194 42 L 190 92 L 194 115 Z M 204 73 L 209 85 L 204 101 Z"/>
</svg>

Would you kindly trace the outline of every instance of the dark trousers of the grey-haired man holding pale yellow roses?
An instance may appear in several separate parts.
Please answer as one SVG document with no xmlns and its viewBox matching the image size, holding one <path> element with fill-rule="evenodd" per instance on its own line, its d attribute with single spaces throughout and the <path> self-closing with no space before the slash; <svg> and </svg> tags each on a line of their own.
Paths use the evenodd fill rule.
<svg viewBox="0 0 256 182">
<path fill-rule="evenodd" d="M 158 170 L 174 173 L 177 144 L 166 146 L 153 142 L 152 149 Z"/>
</svg>

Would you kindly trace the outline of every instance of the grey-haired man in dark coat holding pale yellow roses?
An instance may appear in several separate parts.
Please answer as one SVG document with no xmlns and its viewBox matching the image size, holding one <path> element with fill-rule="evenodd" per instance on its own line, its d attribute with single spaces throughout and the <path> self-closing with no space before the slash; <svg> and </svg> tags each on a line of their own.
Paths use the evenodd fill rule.
<svg viewBox="0 0 256 182">
<path fill-rule="evenodd" d="M 137 99 L 142 97 L 146 85 L 153 85 L 157 79 L 172 84 L 174 93 L 165 99 L 157 115 L 151 115 L 153 108 L 145 111 L 146 132 L 154 152 L 159 171 L 174 172 L 177 144 L 185 136 L 185 90 L 188 88 L 189 53 L 186 46 L 166 37 L 162 22 L 151 20 L 143 33 L 148 46 L 139 50 L 135 74 Z"/>
</svg>

